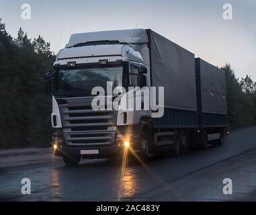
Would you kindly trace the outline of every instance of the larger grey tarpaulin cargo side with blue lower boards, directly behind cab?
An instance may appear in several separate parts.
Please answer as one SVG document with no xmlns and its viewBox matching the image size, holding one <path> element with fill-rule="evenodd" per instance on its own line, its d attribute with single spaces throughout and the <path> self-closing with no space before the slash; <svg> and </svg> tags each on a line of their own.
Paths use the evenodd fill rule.
<svg viewBox="0 0 256 215">
<path fill-rule="evenodd" d="M 155 128 L 196 127 L 196 71 L 194 54 L 167 38 L 146 30 L 151 61 L 151 85 L 165 87 L 165 114 Z"/>
</svg>

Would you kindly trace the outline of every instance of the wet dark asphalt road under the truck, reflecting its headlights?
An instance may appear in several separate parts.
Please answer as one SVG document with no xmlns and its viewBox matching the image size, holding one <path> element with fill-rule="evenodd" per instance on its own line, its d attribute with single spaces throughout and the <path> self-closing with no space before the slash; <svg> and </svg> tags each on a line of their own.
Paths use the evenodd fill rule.
<svg viewBox="0 0 256 215">
<path fill-rule="evenodd" d="M 256 167 L 255 148 L 256 127 L 253 127 L 229 134 L 224 146 L 191 151 L 182 157 L 154 157 L 146 165 L 132 163 L 124 172 L 105 160 L 85 160 L 79 167 L 65 167 L 50 153 L 36 161 L 30 161 L 27 155 L 17 165 L 0 166 L 0 200 L 231 200 L 223 196 L 223 177 L 243 183 L 243 187 L 237 188 L 244 194 L 243 199 L 232 196 L 232 200 L 248 200 L 248 195 L 253 200 L 256 169 L 250 168 Z M 254 154 L 248 156 L 250 153 Z M 234 174 L 239 168 L 240 174 Z M 31 180 L 31 195 L 21 193 L 23 178 Z"/>
</svg>

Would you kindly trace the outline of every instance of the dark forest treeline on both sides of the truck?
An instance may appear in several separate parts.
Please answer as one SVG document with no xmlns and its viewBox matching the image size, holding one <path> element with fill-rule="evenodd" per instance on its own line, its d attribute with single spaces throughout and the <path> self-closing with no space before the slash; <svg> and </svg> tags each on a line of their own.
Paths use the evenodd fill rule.
<svg viewBox="0 0 256 215">
<path fill-rule="evenodd" d="M 28 38 L 19 29 L 12 38 L 0 19 L 0 148 L 50 146 L 51 98 L 44 93 L 44 73 L 55 60 L 50 43 Z M 256 83 L 226 71 L 228 120 L 231 128 L 256 124 Z"/>
</svg>

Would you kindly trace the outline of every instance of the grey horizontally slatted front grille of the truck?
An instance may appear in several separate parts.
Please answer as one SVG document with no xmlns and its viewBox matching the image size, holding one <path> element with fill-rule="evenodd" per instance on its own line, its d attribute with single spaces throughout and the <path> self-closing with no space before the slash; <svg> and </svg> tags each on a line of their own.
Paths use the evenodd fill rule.
<svg viewBox="0 0 256 215">
<path fill-rule="evenodd" d="M 65 142 L 70 146 L 113 144 L 115 117 L 112 110 L 95 111 L 91 105 L 63 106 L 62 120 Z"/>
</svg>

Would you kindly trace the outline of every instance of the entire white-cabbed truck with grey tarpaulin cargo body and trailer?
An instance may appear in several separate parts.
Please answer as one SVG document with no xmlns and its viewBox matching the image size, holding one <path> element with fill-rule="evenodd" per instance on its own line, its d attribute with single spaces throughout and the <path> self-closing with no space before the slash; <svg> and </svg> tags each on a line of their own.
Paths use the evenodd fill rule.
<svg viewBox="0 0 256 215">
<path fill-rule="evenodd" d="M 155 153 L 178 156 L 223 143 L 228 124 L 225 72 L 153 30 L 73 34 L 45 77 L 52 95 L 54 155 L 66 165 L 78 165 L 81 158 L 112 159 L 126 148 L 146 160 Z M 93 88 L 107 89 L 108 81 L 126 89 L 118 94 L 120 101 L 139 99 L 140 110 L 95 110 Z M 145 93 L 150 101 L 146 108 L 136 87 L 163 87 L 164 94 Z M 116 96 L 101 95 L 107 103 Z M 154 117 L 160 99 L 163 114 Z"/>
</svg>

